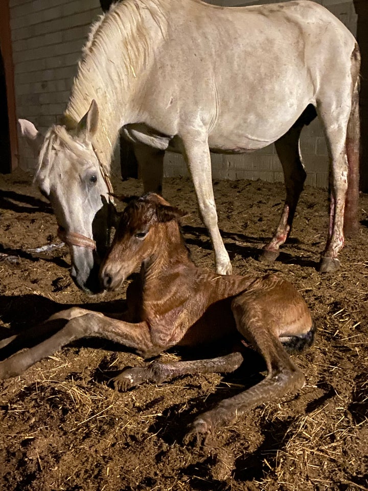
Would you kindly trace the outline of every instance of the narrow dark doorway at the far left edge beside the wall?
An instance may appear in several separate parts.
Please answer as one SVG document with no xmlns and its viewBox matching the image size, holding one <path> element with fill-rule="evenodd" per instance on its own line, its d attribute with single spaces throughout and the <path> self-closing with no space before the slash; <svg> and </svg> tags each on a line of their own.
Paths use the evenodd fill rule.
<svg viewBox="0 0 368 491">
<path fill-rule="evenodd" d="M 4 58 L 0 45 L 0 172 L 7 174 L 11 170 L 8 100 Z"/>
</svg>

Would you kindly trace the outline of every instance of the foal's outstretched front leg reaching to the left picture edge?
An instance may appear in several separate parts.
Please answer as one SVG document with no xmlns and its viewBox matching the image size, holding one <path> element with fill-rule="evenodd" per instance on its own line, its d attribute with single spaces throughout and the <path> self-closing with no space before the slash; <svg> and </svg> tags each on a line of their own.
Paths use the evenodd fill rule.
<svg viewBox="0 0 368 491">
<path fill-rule="evenodd" d="M 70 310 L 71 316 L 73 316 L 73 310 L 75 314 L 77 313 L 75 309 Z M 64 327 L 52 334 L 50 338 L 1 362 L 0 379 L 20 375 L 27 368 L 55 353 L 62 346 L 81 338 L 99 337 L 108 339 L 133 348 L 143 356 L 151 353 L 157 354 L 162 351 L 162 348 L 155 346 L 152 342 L 147 323 L 131 324 L 117 319 L 110 319 L 97 312 L 88 310 L 85 312 L 87 313 L 84 313 L 84 315 L 73 317 Z M 67 315 L 65 311 L 63 315 Z M 63 318 L 65 319 L 65 317 Z M 53 316 L 51 322 L 54 321 L 55 316 Z"/>
</svg>

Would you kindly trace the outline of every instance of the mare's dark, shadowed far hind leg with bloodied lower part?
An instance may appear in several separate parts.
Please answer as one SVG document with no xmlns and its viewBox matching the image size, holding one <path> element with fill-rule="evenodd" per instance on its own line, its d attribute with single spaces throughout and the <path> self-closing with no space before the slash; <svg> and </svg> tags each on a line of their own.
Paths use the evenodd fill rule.
<svg viewBox="0 0 368 491">
<path fill-rule="evenodd" d="M 299 148 L 299 138 L 303 126 L 303 123 L 298 120 L 283 137 L 275 142 L 284 170 L 286 199 L 279 226 L 271 241 L 264 246 L 259 257 L 261 261 L 274 261 L 280 254 L 280 245 L 283 245 L 290 235 L 296 205 L 306 179 Z"/>
</svg>

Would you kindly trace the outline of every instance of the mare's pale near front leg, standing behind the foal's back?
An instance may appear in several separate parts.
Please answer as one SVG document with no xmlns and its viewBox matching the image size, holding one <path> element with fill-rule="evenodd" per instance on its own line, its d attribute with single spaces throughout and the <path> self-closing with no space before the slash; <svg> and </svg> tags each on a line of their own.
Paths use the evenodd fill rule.
<svg viewBox="0 0 368 491">
<path fill-rule="evenodd" d="M 217 224 L 215 197 L 212 187 L 211 155 L 208 135 L 200 129 L 181 135 L 182 153 L 191 174 L 197 195 L 200 217 L 208 228 L 215 251 L 217 273 L 232 274 L 229 255 Z"/>
</svg>

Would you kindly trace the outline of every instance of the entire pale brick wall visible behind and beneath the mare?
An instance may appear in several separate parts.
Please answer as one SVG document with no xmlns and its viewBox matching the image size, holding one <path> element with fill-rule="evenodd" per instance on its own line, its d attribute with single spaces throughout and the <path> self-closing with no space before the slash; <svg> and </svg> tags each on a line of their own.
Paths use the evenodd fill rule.
<svg viewBox="0 0 368 491">
<path fill-rule="evenodd" d="M 185 1 L 185 0 L 183 0 Z M 272 0 L 208 0 L 217 5 L 272 3 Z M 286 0 L 288 1 L 288 0 Z M 317 0 L 318 1 L 318 0 Z M 319 0 L 355 34 L 353 0 Z M 68 100 L 77 60 L 89 26 L 101 14 L 98 0 L 9 0 L 16 110 L 41 131 L 57 122 Z M 328 185 L 328 160 L 323 132 L 314 121 L 302 133 L 307 184 Z M 214 178 L 262 178 L 283 181 L 274 147 L 246 155 L 213 155 Z M 19 139 L 19 163 L 33 169 L 35 159 Z M 165 175 L 188 175 L 180 155 L 165 158 Z"/>
</svg>

